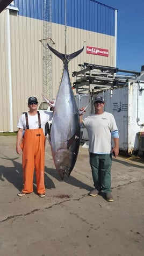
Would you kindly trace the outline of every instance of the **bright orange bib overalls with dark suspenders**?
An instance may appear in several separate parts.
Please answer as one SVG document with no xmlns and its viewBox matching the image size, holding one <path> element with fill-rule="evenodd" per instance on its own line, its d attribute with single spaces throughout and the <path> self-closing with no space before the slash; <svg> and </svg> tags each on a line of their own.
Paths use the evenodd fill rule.
<svg viewBox="0 0 144 256">
<path fill-rule="evenodd" d="M 26 115 L 26 128 L 21 149 L 23 150 L 23 180 L 24 193 L 33 191 L 33 174 L 35 168 L 37 192 L 45 194 L 44 171 L 45 171 L 45 136 L 41 129 L 40 114 L 38 111 L 39 129 L 29 129 Z"/>
</svg>

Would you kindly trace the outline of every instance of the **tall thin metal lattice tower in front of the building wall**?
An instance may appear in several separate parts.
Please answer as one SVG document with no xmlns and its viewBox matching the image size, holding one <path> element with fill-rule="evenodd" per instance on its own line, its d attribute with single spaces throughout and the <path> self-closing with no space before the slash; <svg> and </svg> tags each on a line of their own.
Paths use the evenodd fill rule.
<svg viewBox="0 0 144 256">
<path fill-rule="evenodd" d="M 52 99 L 52 54 L 47 47 L 55 44 L 52 40 L 52 0 L 43 0 L 43 94 Z"/>
</svg>

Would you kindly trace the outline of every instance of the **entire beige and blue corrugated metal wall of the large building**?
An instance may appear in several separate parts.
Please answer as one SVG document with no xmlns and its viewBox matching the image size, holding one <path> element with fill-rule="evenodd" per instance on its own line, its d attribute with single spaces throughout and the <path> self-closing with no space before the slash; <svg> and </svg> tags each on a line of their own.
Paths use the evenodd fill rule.
<svg viewBox="0 0 144 256">
<path fill-rule="evenodd" d="M 0 14 L 0 132 L 10 131 L 10 73 L 12 88 L 12 130 L 17 130 L 21 112 L 27 110 L 27 98 L 37 96 L 42 101 L 43 91 L 43 1 L 15 0 L 10 10 L 10 58 L 8 56 L 8 12 Z M 52 40 L 57 51 L 64 52 L 64 0 L 52 0 Z M 67 53 L 85 46 L 84 51 L 69 63 L 71 76 L 83 62 L 115 65 L 114 9 L 93 0 L 67 0 Z M 86 46 L 109 49 L 109 56 L 87 54 Z M 52 54 L 53 98 L 62 77 L 63 63 Z"/>
</svg>

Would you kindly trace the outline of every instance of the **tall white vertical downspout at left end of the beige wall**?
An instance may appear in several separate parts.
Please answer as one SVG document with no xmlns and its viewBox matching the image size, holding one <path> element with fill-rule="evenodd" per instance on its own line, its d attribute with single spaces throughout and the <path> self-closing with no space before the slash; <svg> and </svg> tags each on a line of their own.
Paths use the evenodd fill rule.
<svg viewBox="0 0 144 256">
<path fill-rule="evenodd" d="M 9 108 L 10 108 L 10 132 L 13 132 L 13 109 L 12 109 L 12 81 L 11 81 L 11 47 L 10 47 L 10 11 L 6 9 L 8 26 L 8 80 L 9 80 Z"/>
</svg>

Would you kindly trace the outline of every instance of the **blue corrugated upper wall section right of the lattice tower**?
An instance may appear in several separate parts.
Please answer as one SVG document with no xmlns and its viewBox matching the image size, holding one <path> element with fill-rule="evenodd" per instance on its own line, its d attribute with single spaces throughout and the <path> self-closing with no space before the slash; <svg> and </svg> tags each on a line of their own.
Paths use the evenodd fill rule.
<svg viewBox="0 0 144 256">
<path fill-rule="evenodd" d="M 95 0 L 67 0 L 68 26 L 114 35 L 114 19 L 115 10 Z M 52 1 L 52 22 L 64 25 L 64 0 Z"/>
</svg>

